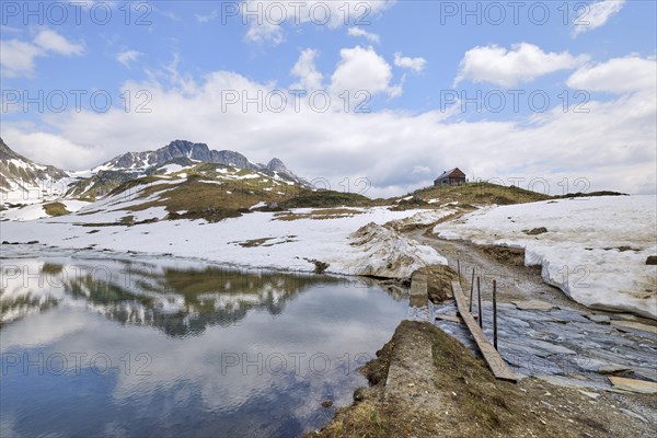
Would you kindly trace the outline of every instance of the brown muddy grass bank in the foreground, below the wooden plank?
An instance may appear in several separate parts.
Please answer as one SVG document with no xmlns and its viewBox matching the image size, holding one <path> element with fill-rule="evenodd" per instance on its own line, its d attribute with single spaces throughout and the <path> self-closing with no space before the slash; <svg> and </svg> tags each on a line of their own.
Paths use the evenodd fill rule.
<svg viewBox="0 0 657 438">
<path fill-rule="evenodd" d="M 377 356 L 362 368 L 371 387 L 309 437 L 654 436 L 657 395 L 497 381 L 430 323 L 402 322 Z"/>
</svg>

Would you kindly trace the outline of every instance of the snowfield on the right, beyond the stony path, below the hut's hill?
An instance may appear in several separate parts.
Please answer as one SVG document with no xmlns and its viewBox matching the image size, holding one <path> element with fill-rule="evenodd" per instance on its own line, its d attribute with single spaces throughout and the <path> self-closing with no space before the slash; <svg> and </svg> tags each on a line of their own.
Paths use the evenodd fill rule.
<svg viewBox="0 0 657 438">
<path fill-rule="evenodd" d="M 546 232 L 525 231 L 544 227 Z M 657 319 L 657 197 L 606 196 L 493 207 L 437 226 L 441 238 L 526 249 L 525 264 L 595 309 Z"/>
</svg>

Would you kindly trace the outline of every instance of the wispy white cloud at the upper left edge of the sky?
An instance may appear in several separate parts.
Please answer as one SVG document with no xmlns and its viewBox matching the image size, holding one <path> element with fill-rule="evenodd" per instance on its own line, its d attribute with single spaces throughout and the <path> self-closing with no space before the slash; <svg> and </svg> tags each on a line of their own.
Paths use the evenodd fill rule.
<svg viewBox="0 0 657 438">
<path fill-rule="evenodd" d="M 71 56 L 82 55 L 84 46 L 69 42 L 55 31 L 41 31 L 33 42 L 20 39 L 0 41 L 0 67 L 8 78 L 31 77 L 34 74 L 35 58 L 50 54 Z"/>
</svg>

